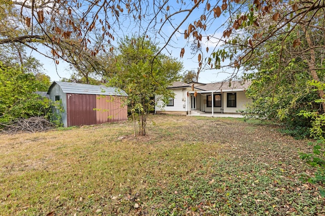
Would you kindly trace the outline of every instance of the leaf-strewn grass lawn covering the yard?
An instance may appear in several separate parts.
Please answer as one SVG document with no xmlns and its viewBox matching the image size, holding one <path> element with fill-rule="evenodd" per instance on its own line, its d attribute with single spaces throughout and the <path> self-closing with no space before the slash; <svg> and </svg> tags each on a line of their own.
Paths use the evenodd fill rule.
<svg viewBox="0 0 325 216">
<path fill-rule="evenodd" d="M 0 134 L 0 215 L 324 215 L 306 140 L 270 124 L 153 115 Z"/>
</svg>

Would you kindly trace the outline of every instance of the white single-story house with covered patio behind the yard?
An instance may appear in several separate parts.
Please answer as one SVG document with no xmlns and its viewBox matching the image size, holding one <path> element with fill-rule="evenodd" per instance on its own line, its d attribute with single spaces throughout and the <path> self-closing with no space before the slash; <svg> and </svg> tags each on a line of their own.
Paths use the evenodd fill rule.
<svg viewBox="0 0 325 216">
<path fill-rule="evenodd" d="M 155 113 L 191 115 L 197 112 L 236 114 L 251 102 L 245 91 L 249 82 L 231 81 L 220 83 L 174 82 L 168 89 L 175 94 L 168 104 L 156 96 Z"/>
</svg>

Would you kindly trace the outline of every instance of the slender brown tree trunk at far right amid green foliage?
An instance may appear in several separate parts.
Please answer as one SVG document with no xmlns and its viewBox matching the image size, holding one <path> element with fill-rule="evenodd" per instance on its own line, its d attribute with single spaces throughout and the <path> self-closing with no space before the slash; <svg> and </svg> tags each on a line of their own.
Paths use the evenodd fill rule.
<svg viewBox="0 0 325 216">
<path fill-rule="evenodd" d="M 317 75 L 317 72 L 316 72 L 316 67 L 315 67 L 315 61 L 316 61 L 316 56 L 315 56 L 315 50 L 314 50 L 314 46 L 313 46 L 313 43 L 310 39 L 310 35 L 309 35 L 309 32 L 307 31 L 306 27 L 303 26 L 303 30 L 305 32 L 305 37 L 306 37 L 306 41 L 308 43 L 308 46 L 310 48 L 310 61 L 307 61 L 308 62 L 308 67 L 309 67 L 309 70 L 310 70 L 310 74 L 312 76 L 312 78 L 319 82 L 319 78 L 318 78 L 318 75 Z M 318 89 L 318 94 L 320 96 L 321 99 L 325 99 L 324 97 L 324 91 L 322 89 Z M 323 109 L 323 112 L 325 113 L 325 102 L 321 102 L 321 106 L 322 106 L 322 109 Z"/>
</svg>

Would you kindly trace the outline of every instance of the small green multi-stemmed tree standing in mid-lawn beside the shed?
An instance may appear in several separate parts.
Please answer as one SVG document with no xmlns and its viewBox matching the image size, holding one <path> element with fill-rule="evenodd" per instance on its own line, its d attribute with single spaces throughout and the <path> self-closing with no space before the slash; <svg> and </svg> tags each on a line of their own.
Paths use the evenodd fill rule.
<svg viewBox="0 0 325 216">
<path fill-rule="evenodd" d="M 128 94 L 128 110 L 139 124 L 139 135 L 146 135 L 146 121 L 154 110 L 155 95 L 167 100 L 173 96 L 167 87 L 180 77 L 182 64 L 174 58 L 160 54 L 158 48 L 144 38 L 126 37 L 119 42 L 117 49 L 117 71 L 108 77 L 108 84 L 119 87 Z"/>
</svg>

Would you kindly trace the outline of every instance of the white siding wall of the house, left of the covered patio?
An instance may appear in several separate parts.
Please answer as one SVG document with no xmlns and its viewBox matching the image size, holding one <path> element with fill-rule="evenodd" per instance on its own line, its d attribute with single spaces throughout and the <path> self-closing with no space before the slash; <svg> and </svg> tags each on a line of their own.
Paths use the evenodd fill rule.
<svg viewBox="0 0 325 216">
<path fill-rule="evenodd" d="M 163 101 L 158 100 L 157 105 L 155 105 L 155 111 L 186 111 L 186 91 L 185 89 L 175 89 L 173 90 L 175 93 L 174 98 L 174 106 L 163 106 Z M 155 100 L 157 100 L 159 96 L 155 96 Z M 185 107 L 184 107 L 184 106 Z"/>
</svg>

